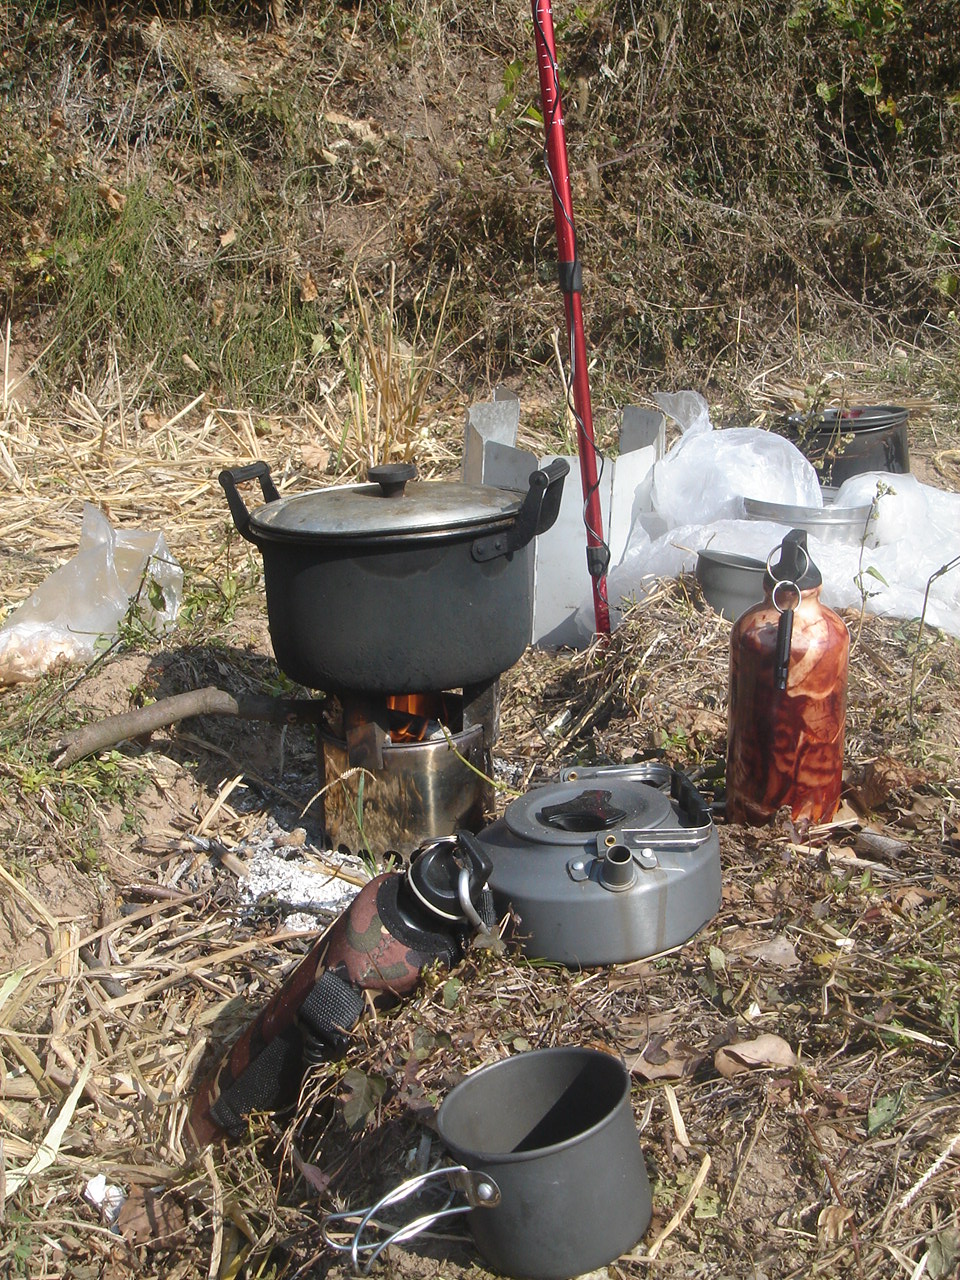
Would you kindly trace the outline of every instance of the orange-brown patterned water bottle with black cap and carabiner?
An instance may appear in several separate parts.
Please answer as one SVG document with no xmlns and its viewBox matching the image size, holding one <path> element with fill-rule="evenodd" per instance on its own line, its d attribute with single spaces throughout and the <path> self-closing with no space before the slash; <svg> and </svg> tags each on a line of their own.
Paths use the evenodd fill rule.
<svg viewBox="0 0 960 1280">
<path fill-rule="evenodd" d="M 822 582 L 806 532 L 792 529 L 767 558 L 763 603 L 733 625 L 728 822 L 760 824 L 785 805 L 795 822 L 829 822 L 837 812 L 850 636 L 820 603 Z"/>
</svg>

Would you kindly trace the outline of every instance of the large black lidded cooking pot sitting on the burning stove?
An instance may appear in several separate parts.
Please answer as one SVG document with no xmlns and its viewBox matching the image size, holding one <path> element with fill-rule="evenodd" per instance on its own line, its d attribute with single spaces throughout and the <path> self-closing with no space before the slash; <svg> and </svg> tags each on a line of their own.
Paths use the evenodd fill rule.
<svg viewBox="0 0 960 1280">
<path fill-rule="evenodd" d="M 570 465 L 526 494 L 417 481 L 412 463 L 367 484 L 280 498 L 265 462 L 221 471 L 239 534 L 264 557 L 276 662 L 328 692 L 429 692 L 493 680 L 532 634 L 534 539 L 559 509 Z M 238 484 L 259 480 L 250 512 Z"/>
</svg>

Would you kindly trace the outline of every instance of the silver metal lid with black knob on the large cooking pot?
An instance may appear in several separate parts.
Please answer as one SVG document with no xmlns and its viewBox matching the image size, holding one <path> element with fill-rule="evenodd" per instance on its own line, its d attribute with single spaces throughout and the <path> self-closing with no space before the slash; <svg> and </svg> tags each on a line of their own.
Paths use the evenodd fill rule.
<svg viewBox="0 0 960 1280">
<path fill-rule="evenodd" d="M 370 468 L 370 483 L 314 489 L 260 507 L 251 527 L 268 538 L 431 538 L 513 520 L 524 495 L 456 480 L 416 480 L 412 463 Z"/>
</svg>

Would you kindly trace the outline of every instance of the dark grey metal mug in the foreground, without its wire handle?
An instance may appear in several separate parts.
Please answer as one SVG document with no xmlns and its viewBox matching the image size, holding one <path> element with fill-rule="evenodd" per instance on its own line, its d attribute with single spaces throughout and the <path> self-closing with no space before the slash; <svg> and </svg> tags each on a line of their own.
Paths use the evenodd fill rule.
<svg viewBox="0 0 960 1280">
<path fill-rule="evenodd" d="M 499 1188 L 499 1203 L 467 1220 L 503 1275 L 568 1280 L 632 1249 L 649 1225 L 630 1075 L 608 1053 L 547 1048 L 481 1068 L 436 1123 L 449 1152 Z"/>
</svg>

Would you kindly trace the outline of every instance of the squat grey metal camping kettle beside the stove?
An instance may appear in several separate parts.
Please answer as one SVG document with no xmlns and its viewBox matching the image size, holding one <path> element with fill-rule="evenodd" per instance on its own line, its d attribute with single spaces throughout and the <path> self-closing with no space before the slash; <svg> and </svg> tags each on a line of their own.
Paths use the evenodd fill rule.
<svg viewBox="0 0 960 1280">
<path fill-rule="evenodd" d="M 570 768 L 479 836 L 499 915 L 525 952 L 573 968 L 657 955 L 721 904 L 719 840 L 692 783 L 666 765 Z"/>
</svg>

